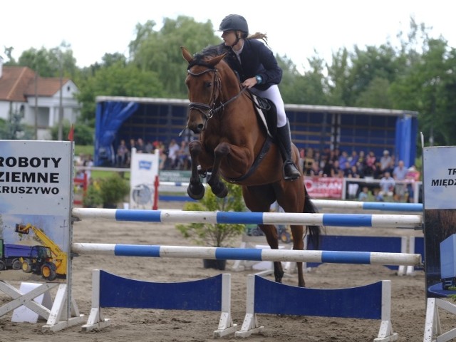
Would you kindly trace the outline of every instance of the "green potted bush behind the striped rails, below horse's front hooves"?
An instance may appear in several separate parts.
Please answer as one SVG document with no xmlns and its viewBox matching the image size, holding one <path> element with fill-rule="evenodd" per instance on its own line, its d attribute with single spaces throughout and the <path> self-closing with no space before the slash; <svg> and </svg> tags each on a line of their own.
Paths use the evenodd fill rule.
<svg viewBox="0 0 456 342">
<path fill-rule="evenodd" d="M 187 202 L 184 210 L 194 212 L 243 212 L 245 211 L 242 187 L 225 182 L 229 196 L 216 197 L 211 190 L 199 202 Z M 245 224 L 211 224 L 190 223 L 177 224 L 177 230 L 183 237 L 190 239 L 195 244 L 209 247 L 230 247 L 236 237 L 245 232 Z M 204 259 L 205 268 L 224 269 L 226 260 Z"/>
</svg>

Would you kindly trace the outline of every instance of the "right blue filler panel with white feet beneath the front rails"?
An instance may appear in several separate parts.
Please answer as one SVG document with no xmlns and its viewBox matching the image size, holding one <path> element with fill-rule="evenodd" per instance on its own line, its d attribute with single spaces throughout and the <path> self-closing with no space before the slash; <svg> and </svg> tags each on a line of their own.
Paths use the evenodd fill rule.
<svg viewBox="0 0 456 342">
<path fill-rule="evenodd" d="M 309 289 L 250 275 L 247 284 L 247 314 L 237 337 L 259 333 L 257 314 L 379 319 L 375 341 L 395 341 L 390 319 L 390 281 L 378 281 L 347 289 Z"/>
</svg>

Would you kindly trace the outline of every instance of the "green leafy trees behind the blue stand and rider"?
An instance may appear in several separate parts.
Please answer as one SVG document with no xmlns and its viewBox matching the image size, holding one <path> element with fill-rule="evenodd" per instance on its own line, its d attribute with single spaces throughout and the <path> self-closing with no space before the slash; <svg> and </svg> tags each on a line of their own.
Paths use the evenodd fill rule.
<svg viewBox="0 0 456 342">
<path fill-rule="evenodd" d="M 40 76 L 58 76 L 63 70 L 81 93 L 83 123 L 93 125 L 96 95 L 186 98 L 187 62 L 180 46 L 194 53 L 221 43 L 211 21 L 199 23 L 187 16 L 165 19 L 157 30 L 154 21 L 135 27 L 129 56 L 106 54 L 102 63 L 77 68 L 71 46 L 46 50 L 30 48 L 19 61 L 5 48 L 6 65 L 29 66 Z M 390 108 L 419 112 L 419 129 L 436 145 L 455 145 L 456 50 L 445 38 L 430 38 L 430 28 L 410 19 L 410 31 L 399 32 L 400 46 L 386 41 L 380 46 L 346 47 L 331 61 L 315 54 L 308 67 L 298 71 L 296 62 L 276 56 L 284 76 L 279 87 L 285 103 Z"/>
</svg>

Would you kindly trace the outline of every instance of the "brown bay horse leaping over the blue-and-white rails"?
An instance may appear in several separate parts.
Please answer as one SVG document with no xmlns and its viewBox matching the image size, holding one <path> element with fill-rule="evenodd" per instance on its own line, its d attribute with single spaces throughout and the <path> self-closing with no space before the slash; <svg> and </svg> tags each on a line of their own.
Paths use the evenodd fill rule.
<svg viewBox="0 0 456 342">
<path fill-rule="evenodd" d="M 316 212 L 303 177 L 284 180 L 279 147 L 271 142 L 261 123 L 251 93 L 239 83 L 217 46 L 195 56 L 182 47 L 182 56 L 189 63 L 185 79 L 190 99 L 187 127 L 199 133 L 199 140 L 189 145 L 192 175 L 188 195 L 201 199 L 204 186 L 200 174 L 211 172 L 207 183 L 214 195 L 227 196 L 227 187 L 220 177 L 241 185 L 244 202 L 252 212 L 269 212 L 275 201 L 285 212 Z M 293 159 L 300 165 L 299 151 L 294 145 Z M 272 224 L 259 227 L 271 249 L 278 249 L 276 227 Z M 314 246 L 318 246 L 320 227 L 306 228 Z M 304 227 L 292 225 L 291 232 L 293 249 L 304 249 Z M 302 263 L 297 266 L 299 286 L 305 286 Z M 278 282 L 284 276 L 279 261 L 274 262 L 274 276 Z"/>
</svg>

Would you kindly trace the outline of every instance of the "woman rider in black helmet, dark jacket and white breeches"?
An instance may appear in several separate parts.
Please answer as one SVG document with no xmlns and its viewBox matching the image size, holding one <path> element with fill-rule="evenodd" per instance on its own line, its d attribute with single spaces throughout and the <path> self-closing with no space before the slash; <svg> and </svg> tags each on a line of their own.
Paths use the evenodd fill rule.
<svg viewBox="0 0 456 342">
<path fill-rule="evenodd" d="M 276 135 L 284 160 L 284 179 L 296 180 L 301 176 L 301 172 L 291 159 L 290 125 L 286 118 L 284 100 L 277 86 L 282 78 L 282 70 L 272 51 L 258 40 L 266 41 L 266 35 L 255 33 L 249 36 L 247 21 L 238 14 L 226 16 L 218 31 L 223 32 L 222 46 L 227 51 L 225 61 L 237 72 L 242 86 L 251 89 L 252 93 L 261 98 L 268 98 L 276 105 Z"/>
</svg>

